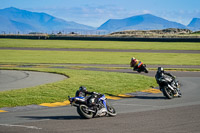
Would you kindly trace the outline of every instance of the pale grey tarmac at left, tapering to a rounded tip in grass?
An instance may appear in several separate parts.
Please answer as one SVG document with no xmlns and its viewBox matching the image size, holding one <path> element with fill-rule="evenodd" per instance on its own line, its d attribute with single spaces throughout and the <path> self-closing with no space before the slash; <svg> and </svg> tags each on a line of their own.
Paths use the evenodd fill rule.
<svg viewBox="0 0 200 133">
<path fill-rule="evenodd" d="M 0 91 L 33 87 L 65 78 L 67 77 L 52 73 L 0 70 Z"/>
</svg>

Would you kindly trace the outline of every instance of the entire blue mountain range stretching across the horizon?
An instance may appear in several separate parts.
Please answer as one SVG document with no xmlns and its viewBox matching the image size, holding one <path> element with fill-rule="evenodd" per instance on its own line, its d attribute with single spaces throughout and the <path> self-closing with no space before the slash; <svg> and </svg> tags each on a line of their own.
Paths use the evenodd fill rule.
<svg viewBox="0 0 200 133">
<path fill-rule="evenodd" d="M 60 31 L 123 31 L 159 30 L 166 28 L 200 30 L 200 18 L 193 18 L 189 25 L 151 15 L 137 15 L 125 19 L 109 19 L 98 28 L 65 21 L 46 13 L 30 12 L 14 7 L 0 9 L 0 34 L 4 33 L 58 33 Z"/>
</svg>

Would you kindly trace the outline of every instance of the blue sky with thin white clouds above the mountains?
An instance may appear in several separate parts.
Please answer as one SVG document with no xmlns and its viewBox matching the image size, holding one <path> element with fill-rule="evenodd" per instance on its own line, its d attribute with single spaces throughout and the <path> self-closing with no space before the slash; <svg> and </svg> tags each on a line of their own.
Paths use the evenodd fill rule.
<svg viewBox="0 0 200 133">
<path fill-rule="evenodd" d="M 11 6 L 94 27 L 146 13 L 185 25 L 200 18 L 200 0 L 0 0 L 0 9 Z"/>
</svg>

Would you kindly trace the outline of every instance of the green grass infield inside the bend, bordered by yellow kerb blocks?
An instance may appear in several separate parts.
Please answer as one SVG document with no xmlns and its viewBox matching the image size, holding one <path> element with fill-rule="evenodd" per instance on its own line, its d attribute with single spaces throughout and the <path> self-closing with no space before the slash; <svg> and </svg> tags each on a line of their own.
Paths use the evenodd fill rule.
<svg viewBox="0 0 200 133">
<path fill-rule="evenodd" d="M 135 92 L 156 85 L 152 77 L 127 73 L 50 68 L 26 68 L 26 70 L 59 73 L 70 78 L 31 88 L 1 91 L 0 108 L 64 101 L 68 95 L 74 96 L 80 85 L 86 86 L 89 91 L 112 95 Z"/>
</svg>

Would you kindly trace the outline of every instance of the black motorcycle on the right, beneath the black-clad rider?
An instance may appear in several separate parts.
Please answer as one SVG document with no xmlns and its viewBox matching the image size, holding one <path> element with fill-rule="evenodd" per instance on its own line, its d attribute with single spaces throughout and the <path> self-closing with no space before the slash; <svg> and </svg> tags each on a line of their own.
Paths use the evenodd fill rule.
<svg viewBox="0 0 200 133">
<path fill-rule="evenodd" d="M 177 80 L 175 80 L 175 78 L 165 75 L 156 80 L 159 84 L 160 90 L 166 98 L 172 99 L 175 96 L 181 97 L 179 90 L 180 84 Z"/>
</svg>

